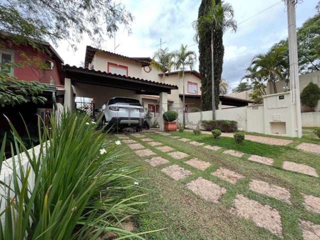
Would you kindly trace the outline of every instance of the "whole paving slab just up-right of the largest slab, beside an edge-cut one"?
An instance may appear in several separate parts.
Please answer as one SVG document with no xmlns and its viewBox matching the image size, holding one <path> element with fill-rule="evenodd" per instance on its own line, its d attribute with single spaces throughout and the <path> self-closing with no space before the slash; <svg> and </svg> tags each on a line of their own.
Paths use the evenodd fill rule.
<svg viewBox="0 0 320 240">
<path fill-rule="evenodd" d="M 249 189 L 291 204 L 290 192 L 284 187 L 253 179 L 249 183 Z"/>
</svg>

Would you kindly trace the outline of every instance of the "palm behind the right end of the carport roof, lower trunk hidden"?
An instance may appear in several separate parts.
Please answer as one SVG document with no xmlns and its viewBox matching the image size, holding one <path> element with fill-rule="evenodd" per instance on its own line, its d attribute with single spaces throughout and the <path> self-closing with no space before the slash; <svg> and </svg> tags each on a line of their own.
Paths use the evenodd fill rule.
<svg viewBox="0 0 320 240">
<path fill-rule="evenodd" d="M 170 72 L 173 65 L 173 53 L 169 52 L 168 48 L 159 49 L 154 52 L 151 65 L 158 70 L 162 70 L 162 82 L 164 83 L 164 73 L 166 71 Z"/>
</svg>

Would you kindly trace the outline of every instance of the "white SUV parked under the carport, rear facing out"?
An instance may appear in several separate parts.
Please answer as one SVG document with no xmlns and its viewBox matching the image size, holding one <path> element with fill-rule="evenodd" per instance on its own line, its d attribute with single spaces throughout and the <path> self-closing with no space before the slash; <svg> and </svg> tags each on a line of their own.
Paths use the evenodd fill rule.
<svg viewBox="0 0 320 240">
<path fill-rule="evenodd" d="M 101 106 L 99 113 L 97 117 L 103 114 L 101 122 L 107 127 L 135 127 L 138 131 L 143 127 L 144 109 L 135 98 L 112 97 Z"/>
</svg>

